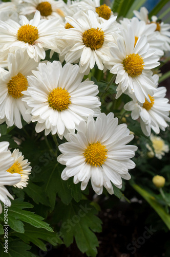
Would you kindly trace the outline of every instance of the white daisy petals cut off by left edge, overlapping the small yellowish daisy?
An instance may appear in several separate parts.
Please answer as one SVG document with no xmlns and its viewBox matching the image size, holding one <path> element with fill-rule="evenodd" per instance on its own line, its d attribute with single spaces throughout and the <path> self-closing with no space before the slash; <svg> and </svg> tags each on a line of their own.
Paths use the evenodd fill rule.
<svg viewBox="0 0 170 257">
<path fill-rule="evenodd" d="M 4 203 L 4 200 L 7 201 L 8 206 L 11 206 L 11 201 L 8 199 L 10 197 L 13 199 L 13 196 L 8 192 L 4 186 L 13 186 L 21 180 L 20 174 L 9 174 L 7 169 L 12 166 L 14 159 L 11 155 L 11 152 L 8 150 L 8 142 L 0 142 L 0 200 Z M 2 205 L 0 203 L 0 213 L 2 213 Z"/>
</svg>

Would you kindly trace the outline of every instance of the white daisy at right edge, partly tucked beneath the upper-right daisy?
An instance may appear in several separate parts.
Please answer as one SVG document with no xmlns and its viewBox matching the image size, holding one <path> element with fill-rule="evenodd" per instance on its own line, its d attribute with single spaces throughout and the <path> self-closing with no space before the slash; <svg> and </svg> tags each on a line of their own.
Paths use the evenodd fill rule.
<svg viewBox="0 0 170 257">
<path fill-rule="evenodd" d="M 158 75 L 153 76 L 155 86 L 158 86 Z M 133 120 L 136 120 L 140 117 L 140 124 L 143 133 L 146 136 L 151 135 L 151 128 L 156 133 L 159 134 L 160 129 L 165 131 L 165 128 L 168 126 L 166 122 L 170 121 L 169 111 L 170 104 L 168 99 L 165 98 L 166 88 L 158 87 L 156 93 L 153 97 L 150 98 L 150 102 L 145 99 L 143 104 L 133 101 L 128 102 L 124 105 L 124 109 L 127 111 L 132 111 L 131 116 Z M 160 129 L 159 129 L 160 128 Z"/>
</svg>

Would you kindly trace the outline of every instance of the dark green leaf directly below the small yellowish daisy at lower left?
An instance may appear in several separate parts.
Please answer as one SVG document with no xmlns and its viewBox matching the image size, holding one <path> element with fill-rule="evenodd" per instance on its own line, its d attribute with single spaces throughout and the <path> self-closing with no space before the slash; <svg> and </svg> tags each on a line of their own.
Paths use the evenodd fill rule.
<svg viewBox="0 0 170 257">
<path fill-rule="evenodd" d="M 26 194 L 35 201 L 36 204 L 41 203 L 42 205 L 49 206 L 47 195 L 44 194 L 42 187 L 37 186 L 35 183 L 29 181 L 29 185 L 24 188 Z"/>
</svg>

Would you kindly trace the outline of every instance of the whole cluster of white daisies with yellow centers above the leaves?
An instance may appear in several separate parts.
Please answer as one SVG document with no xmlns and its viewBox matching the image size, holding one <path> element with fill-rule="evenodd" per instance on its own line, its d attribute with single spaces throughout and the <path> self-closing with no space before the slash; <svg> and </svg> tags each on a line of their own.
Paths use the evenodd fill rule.
<svg viewBox="0 0 170 257">
<path fill-rule="evenodd" d="M 98 86 L 83 76 L 95 65 L 103 72 L 109 69 L 116 76 L 116 98 L 122 93 L 132 98 L 124 108 L 132 111 L 132 119 L 140 117 L 146 136 L 151 128 L 156 134 L 164 131 L 170 121 L 166 89 L 158 87 L 159 77 L 152 71 L 170 50 L 170 26 L 156 16 L 148 20 L 144 7 L 134 13 L 136 17 L 117 22 L 99 0 L 12 0 L 0 5 L 0 124 L 22 128 L 23 118 L 36 122 L 37 133 L 65 137 L 68 142 L 59 145 L 57 159 L 66 165 L 62 179 L 74 176 L 82 190 L 91 179 L 97 194 L 103 186 L 113 194 L 112 183 L 121 188 L 121 178 L 130 179 L 128 171 L 135 167 L 130 158 L 137 147 L 126 145 L 134 137 L 126 124 L 118 125 L 113 113 L 100 113 Z M 43 61 L 48 49 L 60 61 Z M 1 152 L 9 154 L 8 144 L 2 144 Z M 23 165 L 22 171 L 30 171 L 28 163 Z M 25 181 L 26 186 L 28 177 L 19 180 L 24 172 L 15 174 L 18 167 L 4 166 L 7 179 L 0 196 L 5 196 L 4 185 Z M 6 171 L 14 174 L 9 177 Z"/>
</svg>

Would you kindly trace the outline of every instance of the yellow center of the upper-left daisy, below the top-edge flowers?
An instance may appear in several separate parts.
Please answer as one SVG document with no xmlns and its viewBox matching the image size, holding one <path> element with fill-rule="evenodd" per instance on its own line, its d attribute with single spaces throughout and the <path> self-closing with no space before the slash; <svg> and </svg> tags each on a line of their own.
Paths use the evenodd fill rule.
<svg viewBox="0 0 170 257">
<path fill-rule="evenodd" d="M 35 26 L 26 24 L 18 29 L 17 39 L 32 45 L 38 39 L 38 30 Z"/>
</svg>

